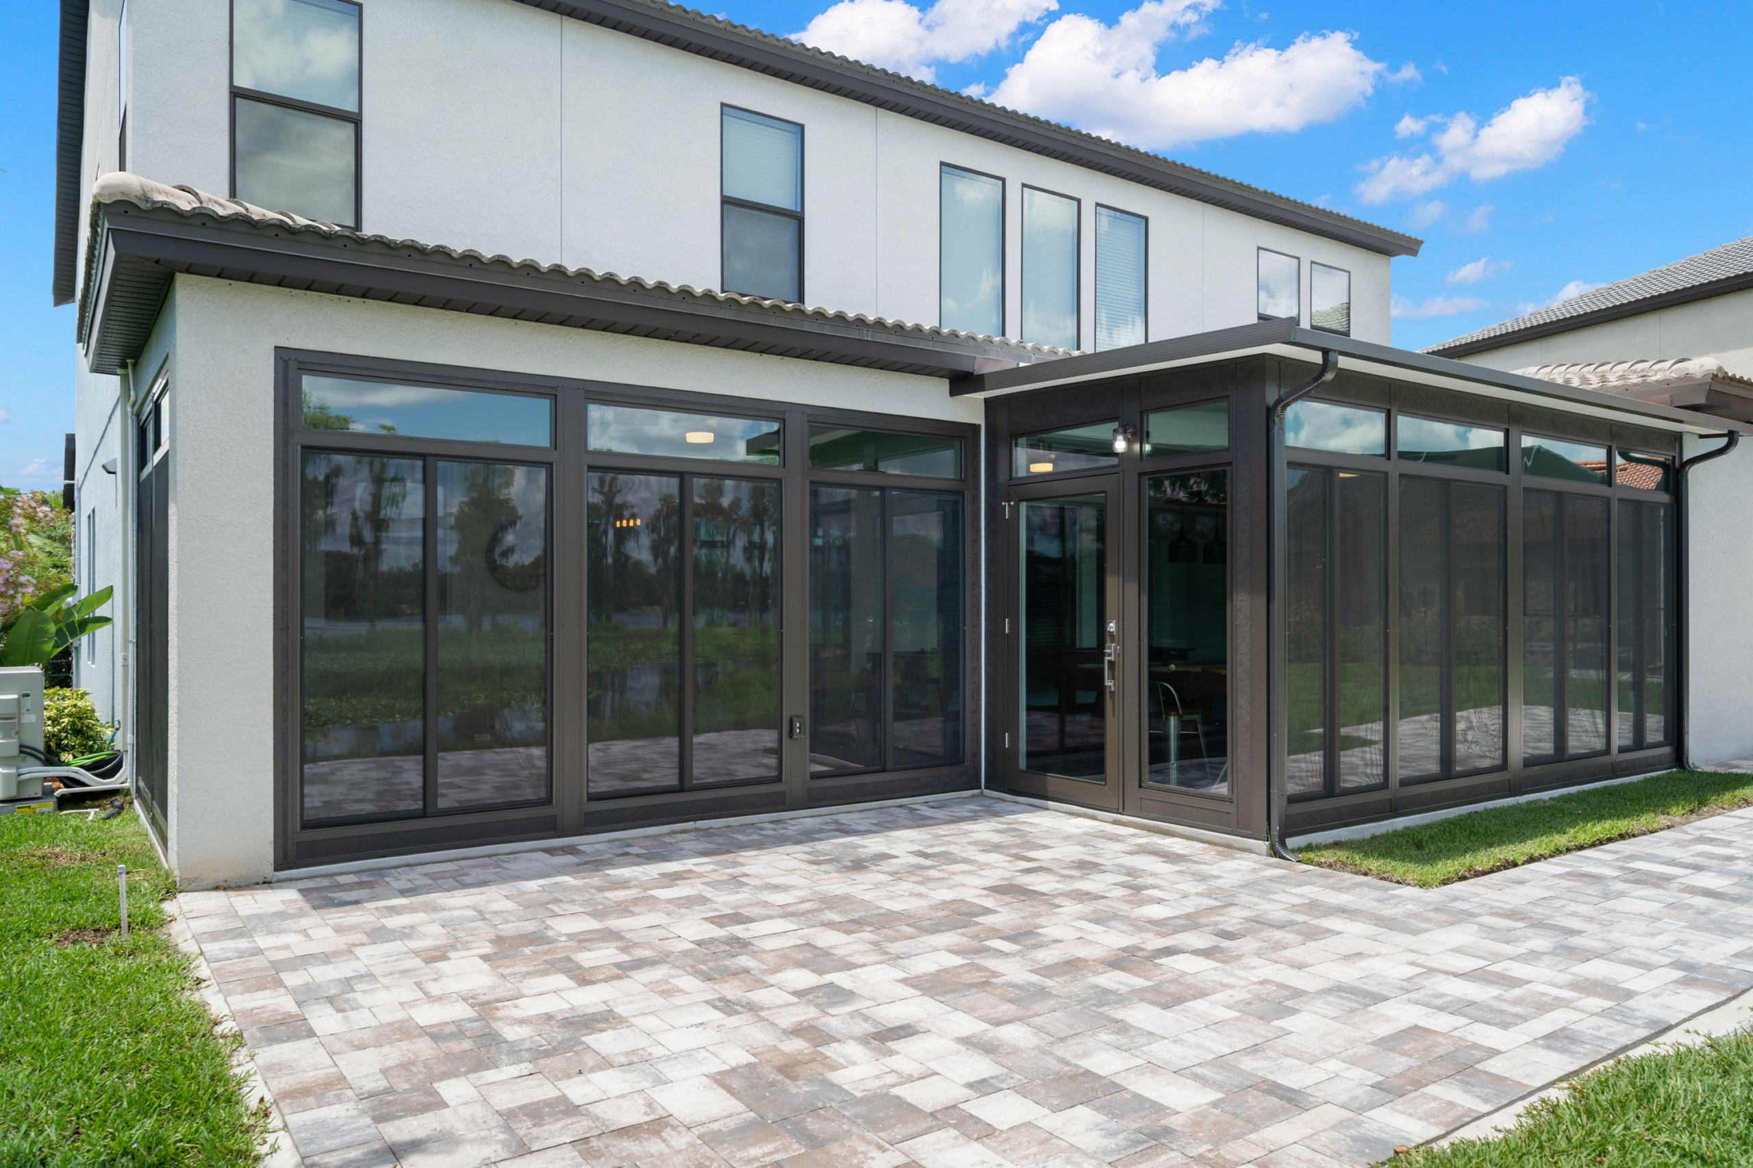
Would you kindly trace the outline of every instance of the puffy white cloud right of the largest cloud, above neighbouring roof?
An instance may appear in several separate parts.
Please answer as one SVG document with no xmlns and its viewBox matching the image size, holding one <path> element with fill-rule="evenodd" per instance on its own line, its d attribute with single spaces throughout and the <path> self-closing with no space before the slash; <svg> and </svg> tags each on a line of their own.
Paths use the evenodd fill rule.
<svg viewBox="0 0 1753 1168">
<path fill-rule="evenodd" d="M 1434 151 L 1376 158 L 1364 167 L 1369 177 L 1357 184 L 1357 193 L 1366 203 L 1385 203 L 1434 191 L 1462 175 L 1490 182 L 1516 170 L 1544 167 L 1588 125 L 1592 98 L 1581 81 L 1564 77 L 1551 89 L 1518 96 L 1483 126 L 1473 114 L 1425 119 L 1408 114 L 1395 126 L 1395 135 L 1418 137 L 1425 128 L 1441 126 L 1430 135 Z"/>
</svg>

